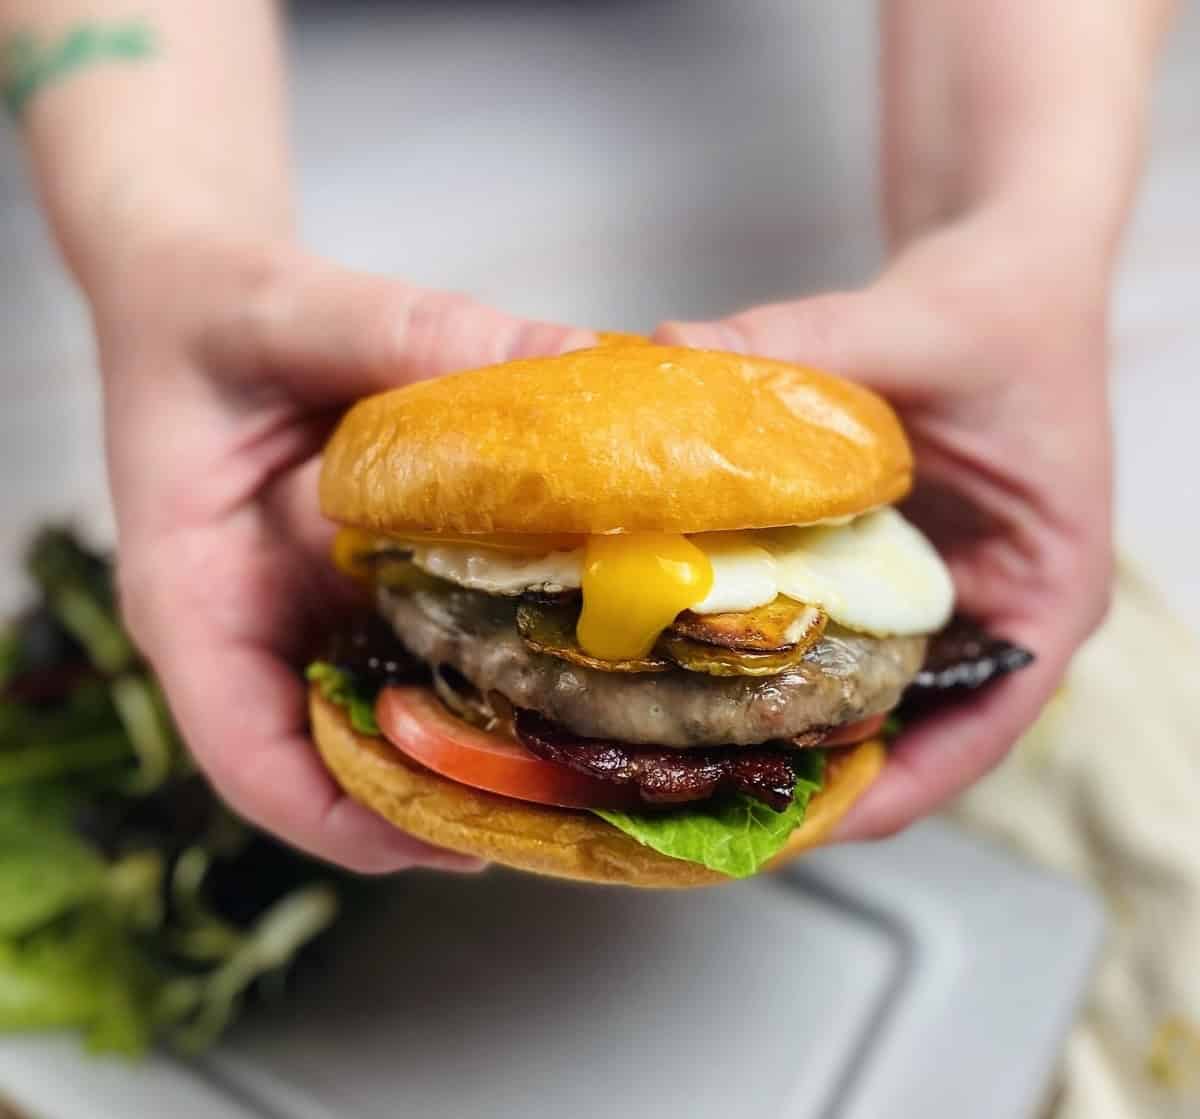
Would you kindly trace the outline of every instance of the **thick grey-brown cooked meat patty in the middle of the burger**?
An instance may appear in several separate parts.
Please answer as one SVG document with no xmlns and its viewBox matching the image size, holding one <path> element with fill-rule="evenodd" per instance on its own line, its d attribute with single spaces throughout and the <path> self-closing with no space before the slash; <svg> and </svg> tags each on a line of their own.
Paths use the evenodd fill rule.
<svg viewBox="0 0 1200 1119">
<path fill-rule="evenodd" d="M 604 672 L 535 653 L 515 599 L 461 588 L 379 591 L 400 640 L 448 664 L 480 692 L 540 712 L 576 735 L 670 747 L 751 746 L 839 726 L 895 706 L 925 638 L 869 638 L 838 628 L 779 676 Z"/>
</svg>

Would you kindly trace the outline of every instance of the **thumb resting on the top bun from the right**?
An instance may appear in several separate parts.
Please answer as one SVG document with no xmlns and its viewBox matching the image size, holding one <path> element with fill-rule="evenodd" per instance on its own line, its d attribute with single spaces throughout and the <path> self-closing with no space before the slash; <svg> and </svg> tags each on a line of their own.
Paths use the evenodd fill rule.
<svg viewBox="0 0 1200 1119">
<path fill-rule="evenodd" d="M 668 322 L 654 341 L 815 365 L 886 396 L 931 390 L 946 329 L 929 307 L 882 286 L 767 304 L 715 322 Z"/>
</svg>

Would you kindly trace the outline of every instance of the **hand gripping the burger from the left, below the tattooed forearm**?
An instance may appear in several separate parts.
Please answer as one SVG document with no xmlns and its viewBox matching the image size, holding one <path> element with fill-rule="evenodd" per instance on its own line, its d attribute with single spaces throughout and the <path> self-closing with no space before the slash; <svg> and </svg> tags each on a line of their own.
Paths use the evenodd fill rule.
<svg viewBox="0 0 1200 1119">
<path fill-rule="evenodd" d="M 298 669 L 348 602 L 316 456 L 360 396 L 592 335 L 265 245 L 163 245 L 92 291 L 122 606 L 197 761 L 334 862 L 478 866 L 349 801 L 308 741 Z"/>
</svg>

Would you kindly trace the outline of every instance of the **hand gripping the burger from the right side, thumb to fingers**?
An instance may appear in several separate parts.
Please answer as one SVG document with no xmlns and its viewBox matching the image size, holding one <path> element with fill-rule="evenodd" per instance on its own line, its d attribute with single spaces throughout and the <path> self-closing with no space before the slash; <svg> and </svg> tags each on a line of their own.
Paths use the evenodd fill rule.
<svg viewBox="0 0 1200 1119">
<path fill-rule="evenodd" d="M 659 341 L 823 366 L 887 397 L 912 439 L 906 513 L 949 563 L 959 609 L 1034 664 L 907 729 L 836 838 L 890 834 L 998 762 L 1108 606 L 1106 270 L 1001 210 L 913 243 L 870 287 Z"/>
</svg>

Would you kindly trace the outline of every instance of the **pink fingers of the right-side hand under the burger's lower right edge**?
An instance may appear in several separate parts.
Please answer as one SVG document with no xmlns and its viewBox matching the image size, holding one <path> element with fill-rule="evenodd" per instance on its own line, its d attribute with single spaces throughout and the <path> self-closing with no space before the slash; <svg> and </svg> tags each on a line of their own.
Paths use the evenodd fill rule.
<svg viewBox="0 0 1200 1119">
<path fill-rule="evenodd" d="M 850 810 L 832 840 L 892 836 L 988 773 L 1032 725 L 1058 686 L 1066 663 L 1066 652 L 1039 652 L 1031 668 L 901 734 L 882 776 Z"/>
</svg>

